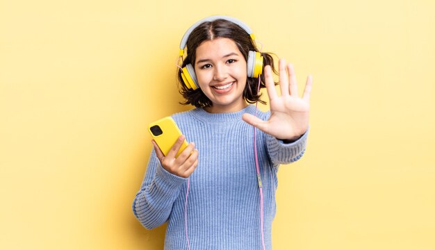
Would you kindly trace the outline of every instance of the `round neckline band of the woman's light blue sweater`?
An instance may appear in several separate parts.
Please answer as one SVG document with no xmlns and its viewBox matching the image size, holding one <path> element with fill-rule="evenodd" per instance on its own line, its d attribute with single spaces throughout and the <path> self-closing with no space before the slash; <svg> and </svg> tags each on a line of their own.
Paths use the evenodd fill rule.
<svg viewBox="0 0 435 250">
<path fill-rule="evenodd" d="M 243 108 L 242 110 L 231 112 L 231 113 L 208 113 L 206 110 L 202 108 L 195 108 L 192 110 L 192 115 L 197 119 L 200 119 L 204 122 L 214 122 L 214 123 L 223 123 L 223 122 L 241 120 L 242 115 L 244 113 L 254 114 L 255 106 L 250 104 L 245 108 Z"/>
</svg>

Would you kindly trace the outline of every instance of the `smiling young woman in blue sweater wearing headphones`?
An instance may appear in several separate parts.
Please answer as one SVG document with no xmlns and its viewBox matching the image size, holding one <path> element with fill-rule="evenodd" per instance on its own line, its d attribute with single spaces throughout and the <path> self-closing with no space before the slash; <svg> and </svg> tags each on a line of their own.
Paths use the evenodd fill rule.
<svg viewBox="0 0 435 250">
<path fill-rule="evenodd" d="M 196 108 L 172 115 L 183 136 L 167 156 L 153 141 L 133 201 L 146 228 L 168 222 L 165 249 L 272 249 L 277 171 L 304 153 L 312 80 L 299 97 L 293 66 L 281 59 L 278 95 L 272 56 L 253 38 L 238 19 L 213 16 L 181 41 L 180 92 Z M 267 113 L 252 105 L 264 87 Z"/>
</svg>

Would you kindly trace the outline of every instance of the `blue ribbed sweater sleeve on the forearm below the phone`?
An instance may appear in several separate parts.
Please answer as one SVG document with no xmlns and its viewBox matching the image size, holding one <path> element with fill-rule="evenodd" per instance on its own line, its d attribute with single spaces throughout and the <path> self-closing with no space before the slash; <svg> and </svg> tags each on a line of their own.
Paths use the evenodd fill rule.
<svg viewBox="0 0 435 250">
<path fill-rule="evenodd" d="M 186 181 L 187 178 L 167 172 L 152 149 L 147 174 L 133 200 L 133 213 L 139 222 L 148 229 L 165 223 L 179 196 L 180 187 Z"/>
</svg>

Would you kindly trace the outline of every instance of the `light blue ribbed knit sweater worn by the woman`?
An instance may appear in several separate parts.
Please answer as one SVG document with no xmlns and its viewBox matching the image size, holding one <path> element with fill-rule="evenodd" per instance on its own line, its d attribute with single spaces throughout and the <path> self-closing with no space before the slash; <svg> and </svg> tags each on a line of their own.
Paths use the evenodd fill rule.
<svg viewBox="0 0 435 250">
<path fill-rule="evenodd" d="M 254 127 L 243 113 L 207 113 L 201 108 L 172 115 L 188 142 L 195 142 L 199 164 L 190 176 L 187 224 L 190 249 L 262 249 L 260 194 L 254 158 Z M 258 111 L 267 120 L 270 113 Z M 257 130 L 258 163 L 263 182 L 264 237 L 272 249 L 272 220 L 279 164 L 299 160 L 307 133 L 284 144 Z M 167 172 L 154 150 L 133 201 L 133 213 L 145 228 L 167 223 L 165 249 L 188 249 L 185 231 L 187 178 Z"/>
</svg>

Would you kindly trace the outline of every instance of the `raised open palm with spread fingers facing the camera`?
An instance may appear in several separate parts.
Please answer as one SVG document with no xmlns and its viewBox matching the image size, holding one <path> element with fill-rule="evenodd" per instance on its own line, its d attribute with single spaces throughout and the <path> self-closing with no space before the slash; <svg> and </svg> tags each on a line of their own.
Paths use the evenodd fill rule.
<svg viewBox="0 0 435 250">
<path fill-rule="evenodd" d="M 279 60 L 279 86 L 281 95 L 274 86 L 272 69 L 264 70 L 265 85 L 270 99 L 270 117 L 263 121 L 250 114 L 243 114 L 243 120 L 252 126 L 281 140 L 296 140 L 309 126 L 310 93 L 313 78 L 306 79 L 304 94 L 299 97 L 293 65 Z"/>
</svg>

